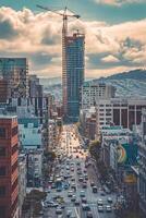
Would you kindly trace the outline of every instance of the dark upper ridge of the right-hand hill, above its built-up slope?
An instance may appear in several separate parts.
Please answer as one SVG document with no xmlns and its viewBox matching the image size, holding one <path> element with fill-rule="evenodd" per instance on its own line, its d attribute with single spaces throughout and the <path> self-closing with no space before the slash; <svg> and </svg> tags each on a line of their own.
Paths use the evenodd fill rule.
<svg viewBox="0 0 146 218">
<path fill-rule="evenodd" d="M 136 69 L 133 71 L 118 73 L 106 77 L 106 80 L 125 80 L 125 78 L 146 81 L 146 70 Z"/>
</svg>

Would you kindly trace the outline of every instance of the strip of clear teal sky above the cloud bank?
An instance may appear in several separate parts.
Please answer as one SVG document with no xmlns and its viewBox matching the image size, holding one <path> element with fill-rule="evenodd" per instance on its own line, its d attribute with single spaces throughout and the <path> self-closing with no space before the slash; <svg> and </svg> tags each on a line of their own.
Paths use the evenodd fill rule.
<svg viewBox="0 0 146 218">
<path fill-rule="evenodd" d="M 126 1 L 126 0 L 125 0 Z M 137 0 L 139 2 L 141 0 Z M 132 20 L 141 20 L 146 16 L 146 1 L 137 3 L 123 3 L 120 7 L 115 4 L 100 3 L 98 0 L 1 0 L 0 5 L 11 7 L 21 10 L 26 7 L 37 11 L 36 4 L 48 5 L 52 8 L 62 8 L 65 4 L 80 13 L 83 20 L 99 20 L 108 23 L 121 23 Z"/>
</svg>

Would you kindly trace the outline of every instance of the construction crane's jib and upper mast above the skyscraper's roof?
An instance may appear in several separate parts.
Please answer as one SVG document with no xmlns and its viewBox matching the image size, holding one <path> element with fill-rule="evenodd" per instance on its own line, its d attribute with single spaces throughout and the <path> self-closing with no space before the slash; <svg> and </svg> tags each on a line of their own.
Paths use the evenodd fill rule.
<svg viewBox="0 0 146 218">
<path fill-rule="evenodd" d="M 68 17 L 75 17 L 75 19 L 81 17 L 78 14 L 74 14 L 74 12 L 73 12 L 73 14 L 68 14 L 68 8 L 66 7 L 64 8 L 63 13 L 60 13 L 59 11 L 51 10 L 48 7 L 42 7 L 42 5 L 39 5 L 39 4 L 37 4 L 37 8 L 42 9 L 45 11 L 50 11 L 50 12 L 56 13 L 56 14 L 63 17 L 62 38 L 65 38 L 65 36 L 68 35 Z"/>
</svg>

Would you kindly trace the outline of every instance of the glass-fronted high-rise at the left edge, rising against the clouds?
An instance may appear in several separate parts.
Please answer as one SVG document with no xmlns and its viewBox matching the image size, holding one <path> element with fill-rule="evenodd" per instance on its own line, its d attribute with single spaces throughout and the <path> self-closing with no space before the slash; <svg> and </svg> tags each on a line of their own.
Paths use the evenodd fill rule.
<svg viewBox="0 0 146 218">
<path fill-rule="evenodd" d="M 0 58 L 0 80 L 8 82 L 8 98 L 28 96 L 28 63 L 26 58 Z"/>
</svg>

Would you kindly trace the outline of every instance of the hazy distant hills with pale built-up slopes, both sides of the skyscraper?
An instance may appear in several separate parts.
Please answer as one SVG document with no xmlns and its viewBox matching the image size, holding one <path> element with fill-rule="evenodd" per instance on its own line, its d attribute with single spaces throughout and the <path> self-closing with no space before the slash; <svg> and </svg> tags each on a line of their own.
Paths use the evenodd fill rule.
<svg viewBox="0 0 146 218">
<path fill-rule="evenodd" d="M 117 88 L 117 96 L 146 96 L 146 70 L 144 69 L 86 81 L 111 84 Z M 44 85 L 45 92 L 61 98 L 61 77 L 40 78 L 40 84 Z"/>
</svg>

